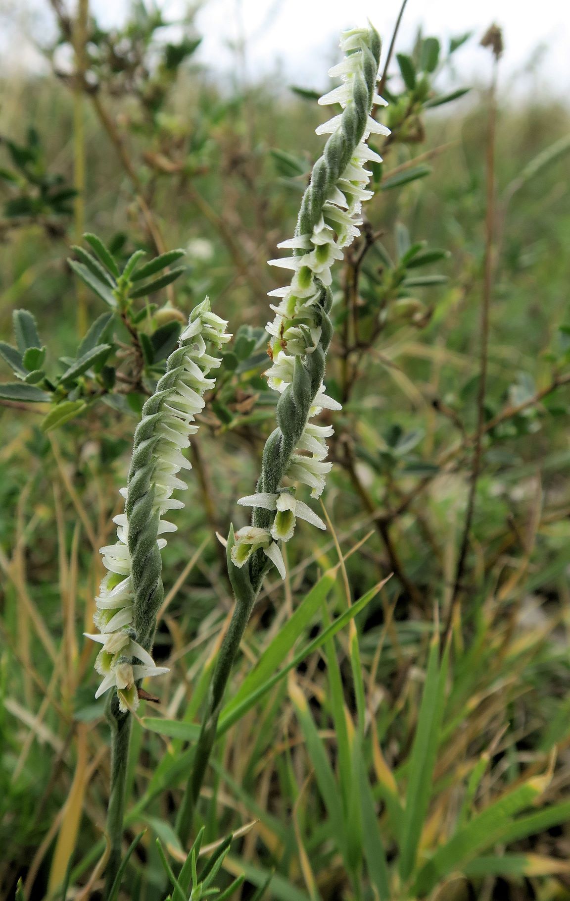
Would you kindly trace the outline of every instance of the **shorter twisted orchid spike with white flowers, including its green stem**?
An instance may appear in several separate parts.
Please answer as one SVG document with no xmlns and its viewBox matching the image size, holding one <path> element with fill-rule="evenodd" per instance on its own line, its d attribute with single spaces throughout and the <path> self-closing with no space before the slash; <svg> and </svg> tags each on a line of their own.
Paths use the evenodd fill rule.
<svg viewBox="0 0 570 901">
<path fill-rule="evenodd" d="M 95 601 L 99 633 L 87 637 L 103 645 L 95 661 L 103 681 L 95 696 L 110 691 L 106 706 L 112 751 L 107 894 L 121 862 L 131 712 L 139 705 L 141 680 L 168 671 L 157 667 L 151 656 L 163 599 L 160 551 L 166 540 L 160 536 L 176 531 L 165 514 L 184 506 L 173 497 L 186 487 L 178 472 L 191 469 L 182 451 L 197 432 L 195 415 L 204 408 L 204 392 L 214 385 L 214 379 L 206 376 L 221 365 L 216 354 L 230 341 L 226 325 L 211 312 L 208 298 L 190 315 L 178 348 L 167 359 L 165 375 L 142 408 L 128 485 L 121 489 L 125 512 L 114 518 L 117 542 L 101 549 L 108 572 Z"/>
</svg>

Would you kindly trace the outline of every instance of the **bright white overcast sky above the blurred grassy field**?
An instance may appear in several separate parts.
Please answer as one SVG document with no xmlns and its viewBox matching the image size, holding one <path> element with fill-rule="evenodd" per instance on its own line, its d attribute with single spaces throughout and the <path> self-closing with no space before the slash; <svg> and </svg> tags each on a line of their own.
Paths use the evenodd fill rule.
<svg viewBox="0 0 570 901">
<path fill-rule="evenodd" d="M 229 44 L 244 36 L 248 48 L 249 77 L 283 72 L 288 83 L 326 86 L 324 67 L 330 62 L 343 28 L 375 24 L 385 38 L 394 27 L 401 0 L 204 0 L 197 15 L 204 35 L 199 59 L 224 75 L 235 70 L 236 57 Z M 68 6 L 77 0 L 68 0 Z M 22 5 L 21 5 L 22 4 Z M 185 0 L 158 0 L 171 17 L 181 14 Z M 0 9 L 11 5 L 14 18 L 24 6 L 48 8 L 48 0 L 0 0 Z M 129 0 L 91 0 L 91 8 L 104 25 L 120 23 Z M 446 39 L 474 32 L 474 39 L 457 55 L 459 77 L 473 82 L 484 77 L 489 54 L 478 39 L 493 22 L 502 26 L 505 53 L 504 87 L 524 95 L 547 88 L 562 99 L 570 97 L 570 5 L 568 0 L 408 0 L 398 46 L 407 50 L 421 24 L 424 33 Z M 10 43 L 14 61 L 22 59 L 22 47 Z M 10 47 L 3 50 L 10 53 Z M 6 52 L 3 52 L 6 61 Z M 534 60 L 529 74 L 529 61 Z"/>
</svg>

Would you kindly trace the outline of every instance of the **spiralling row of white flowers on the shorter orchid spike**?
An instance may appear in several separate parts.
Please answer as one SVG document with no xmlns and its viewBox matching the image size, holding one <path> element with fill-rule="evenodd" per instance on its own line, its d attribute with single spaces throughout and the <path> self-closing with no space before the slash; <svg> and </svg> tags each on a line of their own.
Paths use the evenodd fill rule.
<svg viewBox="0 0 570 901">
<path fill-rule="evenodd" d="M 150 423 L 150 432 L 138 445 L 135 438 L 135 451 L 139 452 L 141 443 L 144 445 L 147 441 L 150 450 L 144 462 L 151 469 L 154 488 L 150 519 L 152 514 L 158 514 L 158 535 L 176 532 L 176 525 L 163 517 L 168 511 L 184 506 L 181 500 L 172 496 L 175 491 L 187 487 L 178 478 L 180 469 L 192 469 L 182 451 L 190 446 L 190 436 L 198 431 L 195 416 L 204 409 L 204 392 L 215 384 L 213 378 L 206 378 L 211 369 L 221 364 L 221 359 L 213 353 L 231 339 L 225 332 L 226 325 L 220 316 L 211 312 L 207 297 L 204 303 L 195 307 L 180 335 L 178 349 L 167 360 L 167 372 L 158 382 L 155 395 L 149 399 L 148 403 L 154 408 L 150 412 L 147 409 L 146 414 L 143 411 L 142 423 Z M 123 497 L 127 496 L 127 488 L 121 488 L 120 492 Z M 116 688 L 124 713 L 136 710 L 139 705 L 135 684 L 139 679 L 160 676 L 168 670 L 157 667 L 149 651 L 136 641 L 132 561 L 128 547 L 129 518 L 122 513 L 115 516 L 113 522 L 117 525 L 117 542 L 100 550 L 108 570 L 95 598 L 94 619 L 100 634 L 84 634 L 103 645 L 95 660 L 95 669 L 104 678 L 95 697 Z M 159 550 L 166 543 L 166 539 L 157 538 Z M 133 663 L 133 660 L 140 660 L 140 663 Z"/>
</svg>

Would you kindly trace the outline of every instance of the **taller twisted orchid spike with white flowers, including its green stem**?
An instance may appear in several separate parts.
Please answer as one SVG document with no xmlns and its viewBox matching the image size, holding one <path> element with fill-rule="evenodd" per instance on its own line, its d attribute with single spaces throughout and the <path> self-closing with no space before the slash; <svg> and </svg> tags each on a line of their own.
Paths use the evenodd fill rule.
<svg viewBox="0 0 570 901">
<path fill-rule="evenodd" d="M 293 250 L 293 256 L 269 260 L 270 265 L 293 271 L 291 283 L 270 294 L 280 298 L 279 305 L 273 307 L 275 320 L 267 324 L 273 360 L 267 377 L 269 385 L 281 395 L 276 407 L 277 427 L 267 439 L 256 494 L 238 502 L 253 507 L 252 524 L 235 535 L 231 530 L 229 536 L 228 569 L 236 607 L 217 661 L 192 777 L 178 816 L 182 842 L 187 842 L 192 827 L 223 690 L 249 614 L 269 566 L 273 564 L 285 577 L 279 542 L 292 537 L 296 518 L 325 528 L 311 507 L 296 498 L 294 483 L 311 487 L 312 497 L 319 497 L 331 467 L 325 462 L 325 438 L 332 429 L 310 422 L 323 408 L 340 409 L 326 395 L 322 381 L 333 332 L 330 267 L 336 259 L 342 259 L 344 248 L 359 234 L 362 201 L 372 196 L 366 190 L 371 175 L 366 161 L 381 158 L 366 146 L 366 139 L 373 132 L 389 133 L 370 115 L 374 104 L 385 105 L 375 93 L 380 61 L 377 32 L 371 26 L 344 32 L 340 47 L 346 56 L 329 74 L 340 77 L 342 84 L 321 97 L 320 103 L 339 103 L 342 113 L 317 129 L 318 134 L 330 134 L 330 138 L 312 170 L 294 237 L 279 245 Z"/>
</svg>

